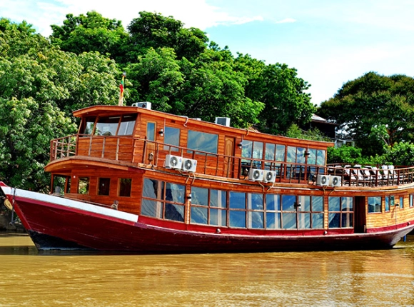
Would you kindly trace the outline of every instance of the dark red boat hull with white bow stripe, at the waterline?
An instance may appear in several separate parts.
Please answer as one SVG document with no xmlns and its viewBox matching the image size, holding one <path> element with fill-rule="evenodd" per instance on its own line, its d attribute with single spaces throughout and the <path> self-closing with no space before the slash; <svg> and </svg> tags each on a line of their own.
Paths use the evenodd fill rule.
<svg viewBox="0 0 414 307">
<path fill-rule="evenodd" d="M 200 231 L 191 225 L 166 228 L 153 219 L 59 196 L 1 185 L 39 250 L 120 251 L 133 253 L 232 253 L 330 251 L 392 248 L 414 223 L 370 233 L 286 235 L 226 233 L 225 228 Z M 156 222 L 156 220 L 154 220 Z M 171 225 L 176 223 L 171 223 Z M 220 230 L 218 230 L 220 229 Z M 313 231 L 315 233 L 315 231 Z"/>
</svg>

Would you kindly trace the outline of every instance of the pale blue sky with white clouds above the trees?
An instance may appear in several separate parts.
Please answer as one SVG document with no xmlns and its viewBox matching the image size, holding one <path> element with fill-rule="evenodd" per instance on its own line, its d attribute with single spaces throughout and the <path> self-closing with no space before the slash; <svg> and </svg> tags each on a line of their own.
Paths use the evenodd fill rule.
<svg viewBox="0 0 414 307">
<path fill-rule="evenodd" d="M 122 21 L 140 11 L 173 16 L 233 56 L 287 64 L 310 84 L 312 103 L 369 71 L 414 76 L 413 0 L 1 0 L 0 17 L 44 36 L 66 14 L 97 11 Z"/>
</svg>

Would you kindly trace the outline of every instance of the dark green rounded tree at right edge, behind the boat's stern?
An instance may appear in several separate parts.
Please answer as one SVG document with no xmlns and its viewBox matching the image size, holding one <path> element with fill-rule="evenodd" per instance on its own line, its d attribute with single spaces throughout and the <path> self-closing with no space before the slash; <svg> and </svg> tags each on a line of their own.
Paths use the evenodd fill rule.
<svg viewBox="0 0 414 307">
<path fill-rule="evenodd" d="M 414 79 L 369 72 L 344 84 L 332 99 L 320 104 L 318 114 L 339 124 L 364 155 L 383 154 L 384 141 L 393 146 L 413 140 Z M 387 136 L 378 134 L 383 128 Z"/>
</svg>

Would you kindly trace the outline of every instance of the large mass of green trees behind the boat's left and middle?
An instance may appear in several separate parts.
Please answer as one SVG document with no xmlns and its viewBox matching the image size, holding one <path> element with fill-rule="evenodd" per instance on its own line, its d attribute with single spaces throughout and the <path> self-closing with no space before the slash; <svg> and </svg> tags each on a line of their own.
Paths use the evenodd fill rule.
<svg viewBox="0 0 414 307">
<path fill-rule="evenodd" d="M 123 71 L 127 105 L 241 128 L 287 134 L 315 109 L 296 69 L 235 57 L 172 16 L 143 11 L 124 29 L 90 11 L 51 28 L 0 19 L 0 180 L 13 186 L 46 189 L 50 140 L 76 132 L 72 111 L 117 104 Z"/>
</svg>

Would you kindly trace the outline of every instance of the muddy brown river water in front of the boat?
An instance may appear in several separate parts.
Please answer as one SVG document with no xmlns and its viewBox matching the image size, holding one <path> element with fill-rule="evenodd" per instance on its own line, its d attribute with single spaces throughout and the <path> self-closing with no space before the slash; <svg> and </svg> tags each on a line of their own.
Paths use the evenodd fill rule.
<svg viewBox="0 0 414 307">
<path fill-rule="evenodd" d="M 0 306 L 414 306 L 414 236 L 385 251 L 113 255 L 0 234 Z"/>
</svg>

